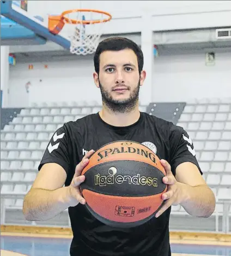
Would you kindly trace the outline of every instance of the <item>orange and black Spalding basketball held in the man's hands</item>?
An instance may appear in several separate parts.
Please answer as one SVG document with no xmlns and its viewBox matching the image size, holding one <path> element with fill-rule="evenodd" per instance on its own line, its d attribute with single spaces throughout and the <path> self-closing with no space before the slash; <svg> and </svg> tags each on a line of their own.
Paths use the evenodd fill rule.
<svg viewBox="0 0 231 256">
<path fill-rule="evenodd" d="M 133 141 L 115 141 L 94 152 L 80 185 L 86 207 L 106 225 L 132 228 L 154 217 L 167 190 L 160 159 Z"/>
</svg>

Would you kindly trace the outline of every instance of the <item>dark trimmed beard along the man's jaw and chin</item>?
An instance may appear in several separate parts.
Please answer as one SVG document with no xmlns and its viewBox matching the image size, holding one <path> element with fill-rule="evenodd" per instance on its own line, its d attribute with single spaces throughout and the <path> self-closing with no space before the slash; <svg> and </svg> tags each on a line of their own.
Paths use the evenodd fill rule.
<svg viewBox="0 0 231 256">
<path fill-rule="evenodd" d="M 129 98 L 125 100 L 114 100 L 113 97 L 106 91 L 99 80 L 100 91 L 102 95 L 102 102 L 105 104 L 110 110 L 117 113 L 129 113 L 135 109 L 136 104 L 139 99 L 139 87 L 140 81 L 138 82 L 137 87 L 132 91 Z"/>
</svg>

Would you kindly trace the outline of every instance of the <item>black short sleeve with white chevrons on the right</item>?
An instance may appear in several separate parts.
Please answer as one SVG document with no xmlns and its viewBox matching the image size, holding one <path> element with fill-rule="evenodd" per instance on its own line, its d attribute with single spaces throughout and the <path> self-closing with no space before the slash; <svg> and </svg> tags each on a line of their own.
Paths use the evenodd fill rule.
<svg viewBox="0 0 231 256">
<path fill-rule="evenodd" d="M 169 148 L 170 148 L 170 162 L 172 172 L 175 175 L 175 170 L 178 165 L 183 162 L 192 162 L 195 164 L 201 174 L 196 151 L 193 146 L 192 139 L 188 133 L 180 126 L 172 125 L 169 130 Z"/>
</svg>

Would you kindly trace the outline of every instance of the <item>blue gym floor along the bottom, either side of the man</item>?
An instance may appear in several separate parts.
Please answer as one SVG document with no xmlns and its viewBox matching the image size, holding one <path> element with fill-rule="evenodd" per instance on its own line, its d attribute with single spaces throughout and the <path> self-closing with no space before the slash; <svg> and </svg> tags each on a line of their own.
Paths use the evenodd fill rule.
<svg viewBox="0 0 231 256">
<path fill-rule="evenodd" d="M 21 255 L 28 256 L 68 256 L 70 248 L 70 238 L 50 238 L 50 237 L 29 237 L 1 235 L 1 249 L 5 251 L 20 253 L 3 253 L 1 255 Z M 199 242 L 195 244 L 171 243 L 173 256 L 198 255 L 231 255 L 231 245 L 203 245 Z"/>
</svg>

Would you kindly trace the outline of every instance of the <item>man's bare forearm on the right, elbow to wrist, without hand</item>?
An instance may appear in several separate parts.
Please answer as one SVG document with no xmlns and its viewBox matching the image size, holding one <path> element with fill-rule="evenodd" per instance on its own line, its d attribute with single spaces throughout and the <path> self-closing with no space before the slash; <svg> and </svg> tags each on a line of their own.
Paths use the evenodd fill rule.
<svg viewBox="0 0 231 256">
<path fill-rule="evenodd" d="M 210 217 L 215 210 L 216 199 L 214 193 L 206 185 L 191 187 L 182 184 L 183 201 L 180 203 L 191 216 Z"/>
</svg>

